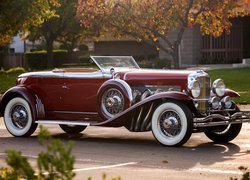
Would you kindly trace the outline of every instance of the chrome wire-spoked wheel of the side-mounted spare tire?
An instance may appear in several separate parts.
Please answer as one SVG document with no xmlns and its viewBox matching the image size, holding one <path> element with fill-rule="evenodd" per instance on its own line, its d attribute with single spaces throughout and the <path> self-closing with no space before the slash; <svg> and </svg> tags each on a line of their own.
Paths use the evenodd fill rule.
<svg viewBox="0 0 250 180">
<path fill-rule="evenodd" d="M 121 91 L 116 88 L 107 90 L 102 96 L 101 108 L 109 117 L 124 110 L 124 97 Z"/>
</svg>

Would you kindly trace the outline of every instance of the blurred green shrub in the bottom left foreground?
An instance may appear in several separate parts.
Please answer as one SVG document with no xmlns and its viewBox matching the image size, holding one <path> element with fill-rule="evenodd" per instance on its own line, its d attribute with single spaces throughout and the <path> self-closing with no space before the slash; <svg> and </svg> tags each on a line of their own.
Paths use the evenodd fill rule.
<svg viewBox="0 0 250 180">
<path fill-rule="evenodd" d="M 6 162 L 8 167 L 0 170 L 0 180 L 7 179 L 68 179 L 74 178 L 74 156 L 71 155 L 73 143 L 64 147 L 60 140 L 52 139 L 49 132 L 40 126 L 39 142 L 47 147 L 47 152 L 38 155 L 38 174 L 31 167 L 26 157 L 21 152 L 7 150 Z"/>
</svg>

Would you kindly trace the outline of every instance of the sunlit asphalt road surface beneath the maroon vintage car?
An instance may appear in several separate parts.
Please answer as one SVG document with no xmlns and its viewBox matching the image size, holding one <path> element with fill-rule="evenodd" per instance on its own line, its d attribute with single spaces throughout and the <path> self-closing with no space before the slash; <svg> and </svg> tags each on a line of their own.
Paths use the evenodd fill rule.
<svg viewBox="0 0 250 180">
<path fill-rule="evenodd" d="M 125 128 L 88 127 L 82 134 L 68 136 L 56 125 L 46 126 L 53 137 L 76 145 L 75 179 L 230 179 L 240 178 L 239 166 L 250 168 L 250 124 L 229 144 L 214 144 L 203 133 L 193 134 L 182 147 L 160 145 L 151 132 L 131 133 Z M 38 130 L 37 130 L 38 131 Z M 29 138 L 12 137 L 0 119 L 0 167 L 5 165 L 6 149 L 16 149 L 35 165 L 44 150 L 37 131 Z"/>
</svg>

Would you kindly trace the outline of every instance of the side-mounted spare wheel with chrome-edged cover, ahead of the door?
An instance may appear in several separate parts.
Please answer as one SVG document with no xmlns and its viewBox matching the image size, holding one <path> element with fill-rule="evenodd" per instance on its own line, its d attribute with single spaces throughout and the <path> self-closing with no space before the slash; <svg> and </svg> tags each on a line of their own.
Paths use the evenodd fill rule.
<svg viewBox="0 0 250 180">
<path fill-rule="evenodd" d="M 107 120 L 129 108 L 132 101 L 130 86 L 121 79 L 110 79 L 97 92 L 97 111 Z"/>
</svg>

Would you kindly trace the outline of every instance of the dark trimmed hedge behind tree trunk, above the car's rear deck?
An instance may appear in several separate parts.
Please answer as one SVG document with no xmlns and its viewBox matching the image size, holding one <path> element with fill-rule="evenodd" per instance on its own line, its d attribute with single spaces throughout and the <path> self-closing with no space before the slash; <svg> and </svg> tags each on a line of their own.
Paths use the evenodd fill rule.
<svg viewBox="0 0 250 180">
<path fill-rule="evenodd" d="M 67 50 L 53 50 L 53 67 L 60 67 L 68 59 Z M 25 53 L 25 61 L 31 70 L 46 69 L 47 51 L 33 51 Z"/>
</svg>

